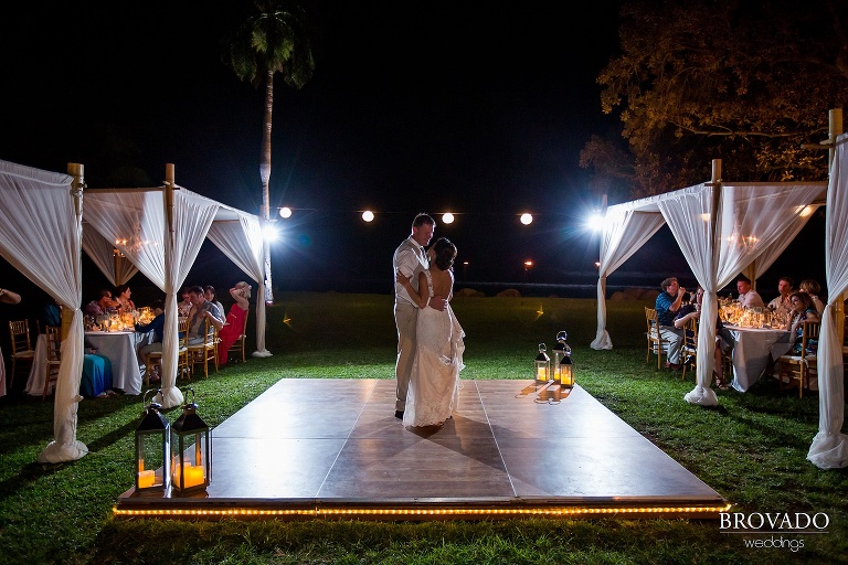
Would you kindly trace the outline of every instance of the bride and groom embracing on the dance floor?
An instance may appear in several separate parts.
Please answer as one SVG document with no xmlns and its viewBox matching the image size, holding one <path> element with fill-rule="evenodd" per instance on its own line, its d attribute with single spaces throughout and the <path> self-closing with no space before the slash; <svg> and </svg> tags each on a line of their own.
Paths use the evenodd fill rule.
<svg viewBox="0 0 848 565">
<path fill-rule="evenodd" d="M 398 324 L 396 418 L 404 426 L 439 426 L 459 394 L 465 332 L 451 308 L 456 246 L 446 237 L 425 250 L 435 221 L 418 214 L 394 252 L 394 319 Z"/>
</svg>

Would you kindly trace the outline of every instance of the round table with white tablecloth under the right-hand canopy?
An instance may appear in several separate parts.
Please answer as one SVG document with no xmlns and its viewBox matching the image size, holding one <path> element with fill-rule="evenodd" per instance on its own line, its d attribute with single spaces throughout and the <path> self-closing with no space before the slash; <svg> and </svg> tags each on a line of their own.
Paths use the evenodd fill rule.
<svg viewBox="0 0 848 565">
<path fill-rule="evenodd" d="M 763 375 L 768 361 L 786 353 L 789 331 L 772 328 L 725 326 L 733 338 L 733 382 L 731 386 L 745 392 Z"/>
</svg>

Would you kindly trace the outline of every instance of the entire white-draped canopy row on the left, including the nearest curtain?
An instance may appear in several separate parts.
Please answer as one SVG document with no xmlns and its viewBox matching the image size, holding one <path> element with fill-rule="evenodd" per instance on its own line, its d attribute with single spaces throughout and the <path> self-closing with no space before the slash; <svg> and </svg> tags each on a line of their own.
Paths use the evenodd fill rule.
<svg viewBox="0 0 848 565">
<path fill-rule="evenodd" d="M 258 285 L 264 296 L 262 226 L 258 217 L 223 205 L 173 181 L 166 167 L 163 186 L 86 191 L 83 166 L 68 164 L 68 174 L 42 171 L 0 160 L 0 255 L 34 285 L 62 305 L 62 364 L 54 395 L 54 439 L 39 462 L 82 458 L 87 447 L 76 439 L 80 381 L 83 373 L 84 328 L 82 249 L 115 284 L 138 269 L 166 292 L 162 344 L 162 405 L 183 402 L 177 380 L 176 292 L 209 237 Z M 87 227 L 83 230 L 83 216 Z M 114 249 L 130 260 L 113 267 Z M 256 301 L 256 352 L 265 349 L 265 302 Z"/>
</svg>

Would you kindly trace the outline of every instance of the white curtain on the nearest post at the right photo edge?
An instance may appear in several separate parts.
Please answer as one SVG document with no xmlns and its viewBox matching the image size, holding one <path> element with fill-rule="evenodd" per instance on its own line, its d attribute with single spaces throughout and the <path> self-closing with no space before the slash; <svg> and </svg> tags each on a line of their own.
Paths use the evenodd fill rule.
<svg viewBox="0 0 848 565">
<path fill-rule="evenodd" d="M 845 423 L 842 344 L 839 342 L 835 307 L 848 290 L 848 135 L 837 139 L 830 166 L 825 220 L 825 274 L 828 303 L 822 317 L 818 339 L 818 434 L 807 459 L 822 469 L 848 467 L 848 436 Z"/>
</svg>

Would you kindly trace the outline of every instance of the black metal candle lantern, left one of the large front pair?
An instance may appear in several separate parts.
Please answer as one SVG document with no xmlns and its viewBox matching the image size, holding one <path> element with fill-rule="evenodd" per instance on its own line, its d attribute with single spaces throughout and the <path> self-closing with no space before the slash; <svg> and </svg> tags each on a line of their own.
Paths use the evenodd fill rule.
<svg viewBox="0 0 848 565">
<path fill-rule="evenodd" d="M 155 393 L 155 401 L 157 395 L 161 395 L 161 390 L 147 391 L 142 404 L 150 393 Z M 163 490 L 170 479 L 170 424 L 160 409 L 162 405 L 158 402 L 146 404 L 141 422 L 136 428 L 136 491 Z"/>
</svg>

